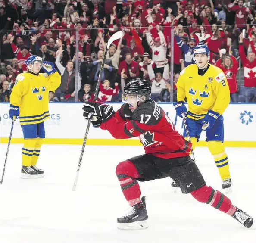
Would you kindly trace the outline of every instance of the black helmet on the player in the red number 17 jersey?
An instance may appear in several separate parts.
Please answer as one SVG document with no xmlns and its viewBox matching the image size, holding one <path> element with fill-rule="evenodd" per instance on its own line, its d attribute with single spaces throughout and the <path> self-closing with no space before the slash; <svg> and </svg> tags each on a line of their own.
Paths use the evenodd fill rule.
<svg viewBox="0 0 256 243">
<path fill-rule="evenodd" d="M 149 100 L 151 94 L 150 84 L 145 79 L 134 78 L 125 85 L 122 100 L 125 98 L 124 96 L 129 94 L 140 97 L 144 95 L 146 100 Z M 138 101 L 140 100 L 140 97 L 138 97 Z M 123 102 L 125 102 L 125 99 Z"/>
</svg>

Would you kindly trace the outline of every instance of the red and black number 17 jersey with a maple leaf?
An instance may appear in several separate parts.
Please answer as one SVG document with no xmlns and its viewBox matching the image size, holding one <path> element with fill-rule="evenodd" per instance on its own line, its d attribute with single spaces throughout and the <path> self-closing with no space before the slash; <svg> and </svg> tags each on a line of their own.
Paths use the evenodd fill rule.
<svg viewBox="0 0 256 243">
<path fill-rule="evenodd" d="M 187 156 L 191 143 L 175 130 L 172 121 L 153 100 L 142 103 L 131 112 L 127 103 L 108 121 L 100 125 L 114 138 L 139 137 L 146 154 L 160 158 Z"/>
</svg>

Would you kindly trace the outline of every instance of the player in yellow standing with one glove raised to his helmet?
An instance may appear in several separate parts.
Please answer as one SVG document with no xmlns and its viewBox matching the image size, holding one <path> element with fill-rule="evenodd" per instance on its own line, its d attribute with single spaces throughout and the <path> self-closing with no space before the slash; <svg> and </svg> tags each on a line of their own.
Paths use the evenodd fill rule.
<svg viewBox="0 0 256 243">
<path fill-rule="evenodd" d="M 45 137 L 44 121 L 49 119 L 49 91 L 59 87 L 61 76 L 52 62 L 43 62 L 39 56 L 30 56 L 28 72 L 16 77 L 10 96 L 10 118 L 19 118 L 25 139 L 22 148 L 22 178 L 38 178 L 44 171 L 37 168 L 42 139 Z M 45 73 L 39 73 L 43 68 Z"/>
</svg>

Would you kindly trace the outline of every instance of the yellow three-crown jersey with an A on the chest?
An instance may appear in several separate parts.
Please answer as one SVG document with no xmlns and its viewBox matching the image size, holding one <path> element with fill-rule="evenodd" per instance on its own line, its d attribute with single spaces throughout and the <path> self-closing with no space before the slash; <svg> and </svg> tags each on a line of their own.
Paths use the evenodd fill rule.
<svg viewBox="0 0 256 243">
<path fill-rule="evenodd" d="M 225 74 L 218 67 L 209 68 L 199 75 L 196 64 L 190 64 L 180 73 L 177 81 L 177 101 L 187 97 L 188 117 L 202 119 L 209 110 L 220 115 L 230 102 L 230 92 Z"/>
</svg>

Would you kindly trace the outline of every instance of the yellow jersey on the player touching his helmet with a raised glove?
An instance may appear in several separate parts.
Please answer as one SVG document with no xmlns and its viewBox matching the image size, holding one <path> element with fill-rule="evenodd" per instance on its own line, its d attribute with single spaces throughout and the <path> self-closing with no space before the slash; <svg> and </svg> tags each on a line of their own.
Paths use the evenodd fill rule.
<svg viewBox="0 0 256 243">
<path fill-rule="evenodd" d="M 16 77 L 10 104 L 19 106 L 21 125 L 37 124 L 50 117 L 49 91 L 55 92 L 61 82 L 58 72 L 51 75 L 24 72 Z"/>
</svg>

